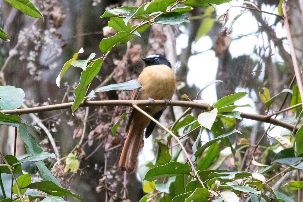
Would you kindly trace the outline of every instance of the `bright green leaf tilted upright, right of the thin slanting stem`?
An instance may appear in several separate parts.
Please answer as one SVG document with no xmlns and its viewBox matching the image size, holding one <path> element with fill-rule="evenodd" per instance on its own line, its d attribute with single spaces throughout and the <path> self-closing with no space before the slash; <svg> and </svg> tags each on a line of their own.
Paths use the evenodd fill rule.
<svg viewBox="0 0 303 202">
<path fill-rule="evenodd" d="M 215 142 L 207 148 L 207 150 L 202 154 L 201 158 L 197 160 L 197 171 L 207 170 L 213 161 L 218 157 L 219 154 L 219 144 Z"/>
</svg>

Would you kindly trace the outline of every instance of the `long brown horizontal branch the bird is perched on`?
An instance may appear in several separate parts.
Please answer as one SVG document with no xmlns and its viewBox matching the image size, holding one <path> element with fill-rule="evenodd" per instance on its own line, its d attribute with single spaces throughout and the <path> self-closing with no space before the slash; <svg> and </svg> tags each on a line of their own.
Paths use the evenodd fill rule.
<svg viewBox="0 0 303 202">
<path fill-rule="evenodd" d="M 72 107 L 72 102 L 64 103 L 64 104 L 53 104 L 48 106 L 41 107 L 33 107 L 33 108 L 23 108 L 23 109 L 14 109 L 14 110 L 2 110 L 1 112 L 4 114 L 31 114 L 45 111 L 54 111 L 67 109 Z M 86 101 L 80 104 L 79 107 L 105 107 L 105 106 L 128 106 L 131 107 L 132 104 L 136 104 L 138 106 L 164 106 L 166 103 L 164 100 L 155 100 L 154 103 L 149 103 L 148 100 L 104 100 L 104 101 Z M 191 101 L 170 101 L 167 103 L 168 106 L 178 106 L 178 107 L 187 107 L 187 108 L 195 108 L 195 109 L 203 109 L 207 110 L 211 108 L 209 104 L 201 104 L 198 102 Z M 259 115 L 259 114 L 249 114 L 249 113 L 241 113 L 242 118 L 251 119 L 255 121 L 261 121 L 269 124 L 274 124 L 277 126 L 284 127 L 288 130 L 293 130 L 295 127 L 293 124 L 288 124 L 283 121 L 277 120 L 275 118 L 271 118 L 267 115 Z M 298 127 L 297 127 L 298 129 Z"/>
</svg>

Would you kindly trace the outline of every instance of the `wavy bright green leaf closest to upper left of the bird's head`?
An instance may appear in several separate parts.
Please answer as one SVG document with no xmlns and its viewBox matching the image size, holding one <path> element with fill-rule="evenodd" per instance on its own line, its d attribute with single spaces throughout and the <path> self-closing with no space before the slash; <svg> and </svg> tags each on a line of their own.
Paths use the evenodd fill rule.
<svg viewBox="0 0 303 202">
<path fill-rule="evenodd" d="M 99 48 L 102 52 L 106 53 L 112 50 L 112 47 L 116 44 L 125 44 L 131 38 L 134 38 L 136 35 L 127 31 L 120 31 L 114 36 L 103 38 L 100 42 Z"/>
</svg>

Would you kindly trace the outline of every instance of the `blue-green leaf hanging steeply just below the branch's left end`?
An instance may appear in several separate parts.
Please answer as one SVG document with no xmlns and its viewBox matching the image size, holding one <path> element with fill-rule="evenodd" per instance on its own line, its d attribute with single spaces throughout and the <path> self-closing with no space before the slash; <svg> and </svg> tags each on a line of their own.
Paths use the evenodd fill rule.
<svg viewBox="0 0 303 202">
<path fill-rule="evenodd" d="M 28 132 L 27 128 L 23 125 L 19 126 L 19 136 L 25 143 L 25 149 L 30 156 L 34 156 L 42 152 L 42 148 L 36 142 L 35 138 L 32 136 L 32 134 Z"/>
</svg>

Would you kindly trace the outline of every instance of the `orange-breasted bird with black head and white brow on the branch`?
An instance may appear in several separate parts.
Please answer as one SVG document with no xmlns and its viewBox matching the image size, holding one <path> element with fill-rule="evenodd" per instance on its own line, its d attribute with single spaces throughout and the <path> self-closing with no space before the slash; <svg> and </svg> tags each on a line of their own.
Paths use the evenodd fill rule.
<svg viewBox="0 0 303 202">
<path fill-rule="evenodd" d="M 132 92 L 131 100 L 170 100 L 175 93 L 176 80 L 171 63 L 160 54 L 149 55 L 141 58 L 145 62 L 145 68 L 138 77 L 138 83 L 143 88 L 137 88 Z M 159 120 L 166 106 L 140 107 L 156 120 Z M 137 167 L 137 159 L 143 134 L 148 138 L 155 128 L 156 123 L 136 109 L 128 114 L 126 132 L 128 135 L 122 149 L 119 167 L 122 171 L 132 173 Z"/>
</svg>

